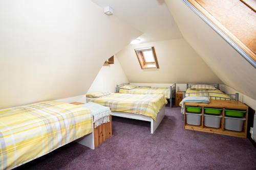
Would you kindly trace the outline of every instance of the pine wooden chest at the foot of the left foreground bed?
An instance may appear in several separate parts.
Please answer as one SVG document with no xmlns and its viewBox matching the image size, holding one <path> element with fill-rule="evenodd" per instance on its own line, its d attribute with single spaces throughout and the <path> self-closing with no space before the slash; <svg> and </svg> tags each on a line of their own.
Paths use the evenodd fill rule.
<svg viewBox="0 0 256 170">
<path fill-rule="evenodd" d="M 70 104 L 82 105 L 84 103 L 73 102 Z M 102 124 L 97 128 L 94 127 L 95 125 L 93 124 L 94 147 L 97 148 L 101 143 L 112 136 L 112 115 L 110 115 L 110 122 Z"/>
</svg>

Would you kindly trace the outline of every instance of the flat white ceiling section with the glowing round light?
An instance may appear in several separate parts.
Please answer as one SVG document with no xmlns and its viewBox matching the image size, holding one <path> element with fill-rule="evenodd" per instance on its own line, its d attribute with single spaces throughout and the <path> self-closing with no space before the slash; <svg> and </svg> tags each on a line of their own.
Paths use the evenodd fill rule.
<svg viewBox="0 0 256 170">
<path fill-rule="evenodd" d="M 111 6 L 114 15 L 143 33 L 141 42 L 182 38 L 163 0 L 91 0 L 104 8 Z"/>
</svg>

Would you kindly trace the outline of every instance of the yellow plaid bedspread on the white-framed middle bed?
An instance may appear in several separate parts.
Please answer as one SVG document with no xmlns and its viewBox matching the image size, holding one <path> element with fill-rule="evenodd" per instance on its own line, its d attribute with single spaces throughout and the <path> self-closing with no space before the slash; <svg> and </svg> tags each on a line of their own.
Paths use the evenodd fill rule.
<svg viewBox="0 0 256 170">
<path fill-rule="evenodd" d="M 112 111 L 142 114 L 154 120 L 162 106 L 167 104 L 162 94 L 111 93 L 100 98 L 87 98 L 86 100 L 110 107 Z"/>
</svg>

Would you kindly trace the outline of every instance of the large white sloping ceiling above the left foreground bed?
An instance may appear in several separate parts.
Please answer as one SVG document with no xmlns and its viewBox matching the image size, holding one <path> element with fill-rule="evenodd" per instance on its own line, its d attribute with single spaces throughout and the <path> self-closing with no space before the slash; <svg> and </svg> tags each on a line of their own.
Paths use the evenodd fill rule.
<svg viewBox="0 0 256 170">
<path fill-rule="evenodd" d="M 91 1 L 0 1 L 0 108 L 85 94 L 141 35 Z"/>
</svg>

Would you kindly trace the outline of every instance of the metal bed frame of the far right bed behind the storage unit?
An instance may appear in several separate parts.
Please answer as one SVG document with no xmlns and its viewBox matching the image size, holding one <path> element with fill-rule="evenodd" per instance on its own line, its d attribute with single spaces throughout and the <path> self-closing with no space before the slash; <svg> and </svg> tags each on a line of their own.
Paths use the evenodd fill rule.
<svg viewBox="0 0 256 170">
<path fill-rule="evenodd" d="M 197 83 L 197 84 L 205 84 L 205 83 Z M 195 85 L 195 84 L 187 84 L 187 88 L 186 89 L 188 89 L 188 88 L 190 88 L 192 85 Z M 207 85 L 213 85 L 214 87 L 216 87 L 217 89 L 220 89 L 220 85 L 219 84 L 207 84 Z M 223 100 L 229 100 L 229 101 L 238 101 L 239 100 L 239 93 L 235 93 L 235 94 L 226 94 L 226 95 L 229 95 L 229 98 L 224 98 L 224 97 L 219 97 L 219 96 L 210 96 L 209 95 L 209 93 L 216 93 L 216 94 L 223 94 L 223 93 L 220 93 L 220 92 L 207 92 L 207 90 L 205 90 L 205 91 L 202 91 L 202 92 L 194 92 L 194 93 L 186 93 L 185 91 L 183 92 L 183 99 L 185 98 L 185 96 L 186 96 L 186 94 L 188 94 L 188 96 L 190 95 L 190 94 L 200 94 L 200 93 L 202 93 L 202 94 L 204 94 L 204 95 L 202 95 L 202 96 L 206 96 L 206 97 L 210 97 L 211 99 L 212 98 L 214 98 L 215 100 L 221 100 L 221 99 L 223 99 Z M 205 93 L 206 93 L 206 95 L 205 95 Z M 207 95 L 207 93 L 208 93 L 208 95 Z M 201 95 L 200 95 L 201 96 Z"/>
</svg>

